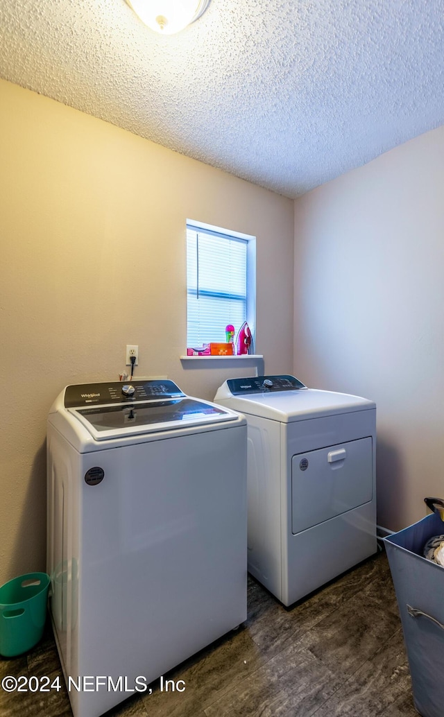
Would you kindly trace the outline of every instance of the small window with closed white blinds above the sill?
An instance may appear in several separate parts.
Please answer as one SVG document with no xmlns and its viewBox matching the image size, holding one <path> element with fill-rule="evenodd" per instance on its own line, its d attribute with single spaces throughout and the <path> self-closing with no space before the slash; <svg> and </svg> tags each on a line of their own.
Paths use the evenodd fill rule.
<svg viewBox="0 0 444 717">
<path fill-rule="evenodd" d="M 247 321 L 255 332 L 255 237 L 186 222 L 186 346 L 235 338 Z"/>
</svg>

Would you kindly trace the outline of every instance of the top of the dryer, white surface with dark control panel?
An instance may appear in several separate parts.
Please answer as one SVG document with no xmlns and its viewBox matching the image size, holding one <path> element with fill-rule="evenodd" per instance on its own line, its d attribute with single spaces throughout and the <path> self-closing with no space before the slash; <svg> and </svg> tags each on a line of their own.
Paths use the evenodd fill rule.
<svg viewBox="0 0 444 717">
<path fill-rule="evenodd" d="M 283 423 L 375 408 L 374 402 L 358 396 L 308 389 L 288 375 L 228 379 L 214 401 L 243 414 Z"/>
</svg>

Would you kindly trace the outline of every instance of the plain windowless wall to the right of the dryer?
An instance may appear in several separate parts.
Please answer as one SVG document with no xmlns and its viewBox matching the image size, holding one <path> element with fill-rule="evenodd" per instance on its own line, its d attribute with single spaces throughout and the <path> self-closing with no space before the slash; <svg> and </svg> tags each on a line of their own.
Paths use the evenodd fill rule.
<svg viewBox="0 0 444 717">
<path fill-rule="evenodd" d="M 378 523 L 444 497 L 444 127 L 295 202 L 294 371 L 377 403 Z"/>
</svg>

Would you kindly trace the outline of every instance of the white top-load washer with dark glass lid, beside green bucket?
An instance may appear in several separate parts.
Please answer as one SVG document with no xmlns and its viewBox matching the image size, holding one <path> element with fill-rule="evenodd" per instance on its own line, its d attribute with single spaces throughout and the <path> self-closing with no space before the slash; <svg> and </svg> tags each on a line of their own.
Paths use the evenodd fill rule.
<svg viewBox="0 0 444 717">
<path fill-rule="evenodd" d="M 246 619 L 247 427 L 172 381 L 67 386 L 47 458 L 52 621 L 98 717 Z"/>
</svg>

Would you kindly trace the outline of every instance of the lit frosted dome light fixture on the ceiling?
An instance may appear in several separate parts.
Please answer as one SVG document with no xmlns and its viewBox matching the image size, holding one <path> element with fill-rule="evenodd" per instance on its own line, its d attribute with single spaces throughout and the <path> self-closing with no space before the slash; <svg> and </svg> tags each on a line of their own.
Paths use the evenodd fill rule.
<svg viewBox="0 0 444 717">
<path fill-rule="evenodd" d="M 209 0 L 126 0 L 142 22 L 162 35 L 174 35 L 197 20 Z"/>
</svg>

